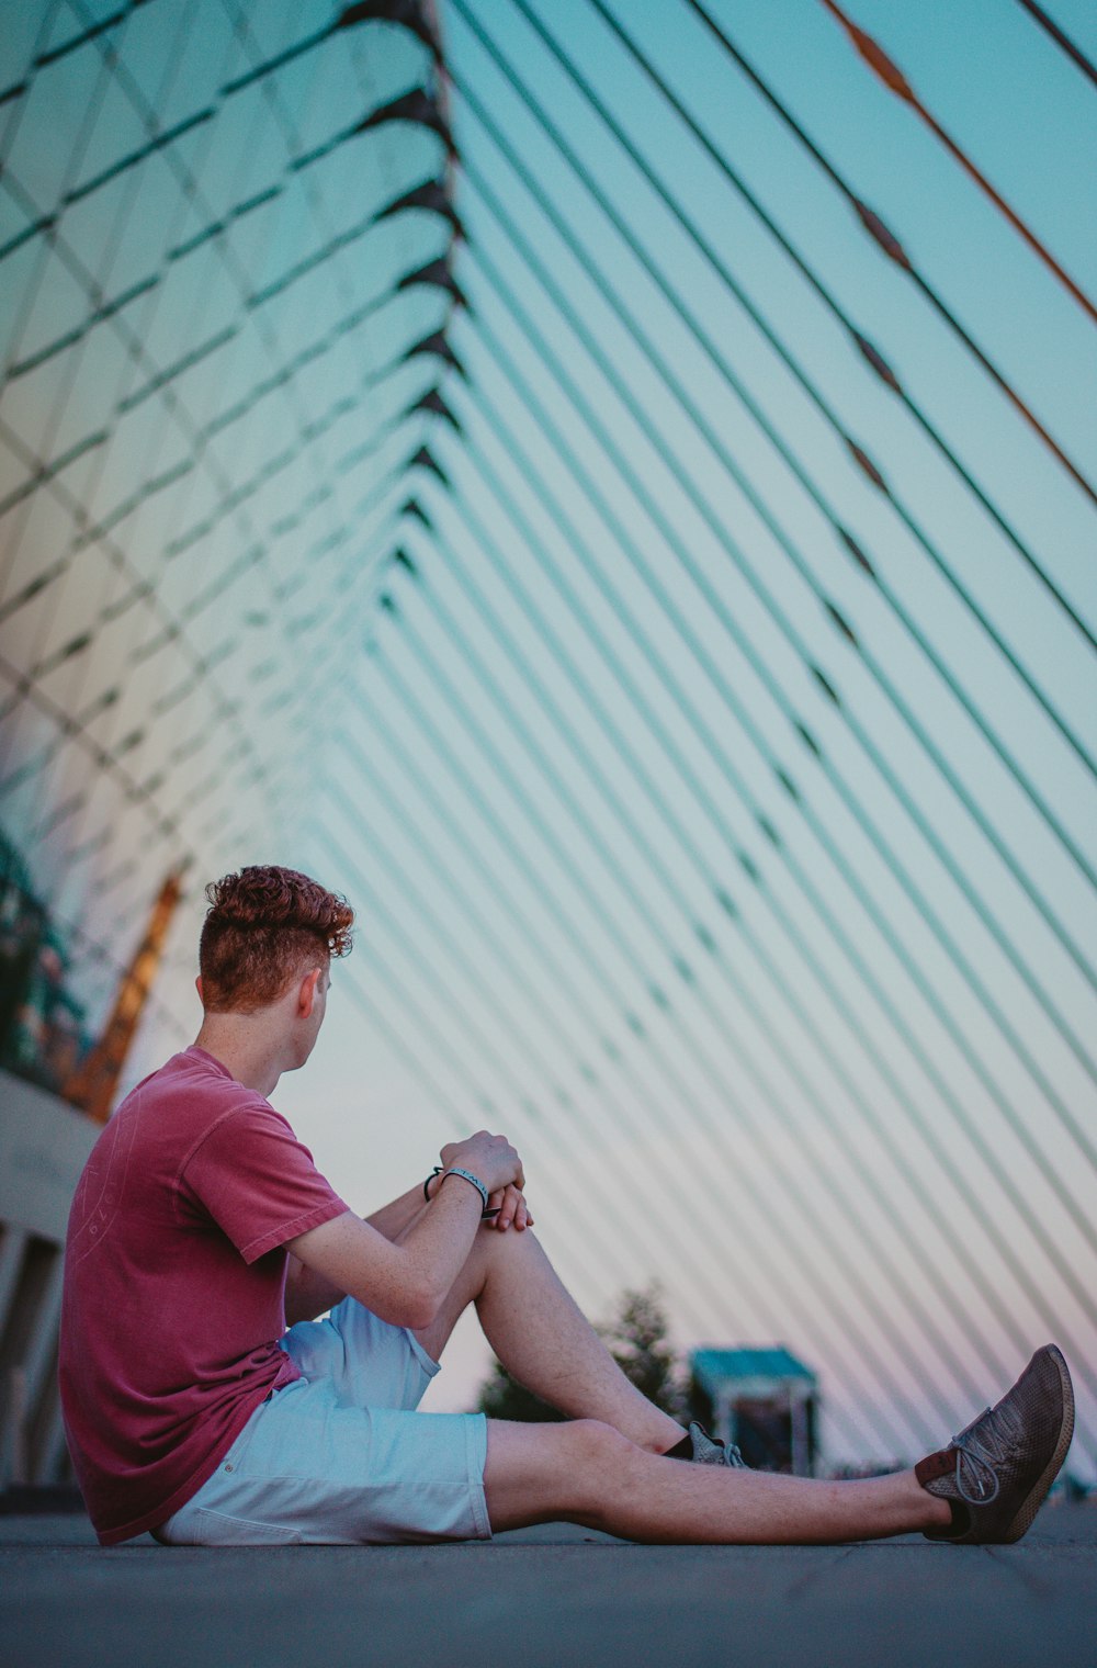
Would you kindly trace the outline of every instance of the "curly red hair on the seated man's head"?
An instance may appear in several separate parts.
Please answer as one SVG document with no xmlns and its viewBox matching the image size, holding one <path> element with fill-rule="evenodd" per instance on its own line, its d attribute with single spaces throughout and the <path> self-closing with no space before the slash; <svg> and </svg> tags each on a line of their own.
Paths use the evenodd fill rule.
<svg viewBox="0 0 1097 1668">
<path fill-rule="evenodd" d="M 198 967 L 210 1012 L 267 1007 L 308 967 L 350 952 L 353 909 L 297 869 L 255 864 L 212 881 L 205 896 Z"/>
</svg>

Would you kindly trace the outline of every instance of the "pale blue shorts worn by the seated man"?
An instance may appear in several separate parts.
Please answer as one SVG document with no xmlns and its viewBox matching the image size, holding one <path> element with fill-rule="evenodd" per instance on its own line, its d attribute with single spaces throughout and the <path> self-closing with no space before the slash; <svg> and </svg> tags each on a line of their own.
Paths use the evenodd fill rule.
<svg viewBox="0 0 1097 1668">
<path fill-rule="evenodd" d="M 482 1413 L 415 1413 L 438 1371 L 347 1298 L 282 1339 L 302 1376 L 263 1401 L 155 1535 L 168 1546 L 490 1540 Z"/>
</svg>

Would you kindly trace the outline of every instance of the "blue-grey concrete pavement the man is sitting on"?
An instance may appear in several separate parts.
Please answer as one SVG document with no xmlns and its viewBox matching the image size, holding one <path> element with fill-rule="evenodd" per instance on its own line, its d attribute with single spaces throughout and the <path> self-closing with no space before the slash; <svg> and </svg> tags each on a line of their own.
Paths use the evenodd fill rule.
<svg viewBox="0 0 1097 1668">
<path fill-rule="evenodd" d="M 20 1668 L 1095 1668 L 1097 1506 L 1017 1546 L 632 1546 L 567 1525 L 493 1545 L 103 1551 L 0 1518 Z"/>
</svg>

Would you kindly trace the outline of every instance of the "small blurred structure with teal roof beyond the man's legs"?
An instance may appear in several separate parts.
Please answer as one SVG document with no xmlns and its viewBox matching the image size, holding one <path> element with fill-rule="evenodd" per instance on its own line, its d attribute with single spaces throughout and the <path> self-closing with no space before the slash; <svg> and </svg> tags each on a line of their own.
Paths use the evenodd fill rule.
<svg viewBox="0 0 1097 1668">
<path fill-rule="evenodd" d="M 819 1379 L 784 1344 L 690 1354 L 694 1386 L 712 1408 L 717 1436 L 739 1443 L 747 1465 L 810 1476 Z"/>
</svg>

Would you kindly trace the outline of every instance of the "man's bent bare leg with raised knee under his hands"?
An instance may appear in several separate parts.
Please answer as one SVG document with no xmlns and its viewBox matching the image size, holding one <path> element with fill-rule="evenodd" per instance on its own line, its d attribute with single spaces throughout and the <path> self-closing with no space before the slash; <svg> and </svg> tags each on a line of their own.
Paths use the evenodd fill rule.
<svg viewBox="0 0 1097 1668">
<path fill-rule="evenodd" d="M 507 1371 L 560 1413 L 602 1419 L 657 1454 L 685 1434 L 629 1383 L 528 1229 L 477 1234 L 442 1313 L 415 1334 L 435 1361 L 470 1303 Z"/>
</svg>

